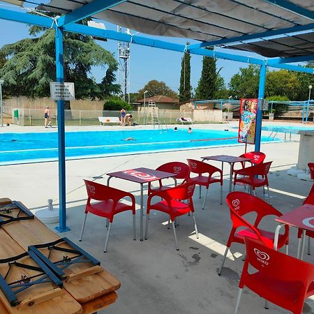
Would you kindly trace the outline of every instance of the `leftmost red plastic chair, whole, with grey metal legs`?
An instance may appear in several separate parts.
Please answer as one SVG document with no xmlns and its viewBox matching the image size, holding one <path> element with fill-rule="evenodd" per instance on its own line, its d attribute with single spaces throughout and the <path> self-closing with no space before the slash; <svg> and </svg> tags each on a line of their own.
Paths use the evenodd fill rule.
<svg viewBox="0 0 314 314">
<path fill-rule="evenodd" d="M 82 241 L 85 222 L 87 214 L 91 213 L 100 217 L 107 218 L 109 220 L 107 237 L 105 241 L 104 252 L 107 252 L 107 245 L 109 240 L 109 234 L 111 224 L 114 215 L 122 213 L 123 211 L 132 211 L 133 214 L 133 239 L 135 240 L 135 197 L 134 195 L 124 192 L 124 190 L 118 190 L 117 188 L 111 188 L 110 186 L 104 186 L 96 182 L 84 180 L 87 189 L 87 204 L 85 207 L 85 217 L 82 224 L 82 230 L 80 234 L 80 240 Z M 124 197 L 130 197 L 131 205 L 119 202 Z M 97 200 L 99 202 L 91 204 L 91 200 Z"/>
</svg>

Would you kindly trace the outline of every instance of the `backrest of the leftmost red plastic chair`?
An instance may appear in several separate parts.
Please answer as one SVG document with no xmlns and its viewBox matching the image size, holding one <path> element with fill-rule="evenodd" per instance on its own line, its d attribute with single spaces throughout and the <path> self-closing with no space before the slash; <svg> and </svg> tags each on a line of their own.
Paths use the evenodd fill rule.
<svg viewBox="0 0 314 314">
<path fill-rule="evenodd" d="M 93 181 L 84 180 L 87 195 L 92 200 L 119 200 L 121 197 L 125 197 L 124 191 L 112 188 L 110 186 L 104 186 Z"/>
</svg>

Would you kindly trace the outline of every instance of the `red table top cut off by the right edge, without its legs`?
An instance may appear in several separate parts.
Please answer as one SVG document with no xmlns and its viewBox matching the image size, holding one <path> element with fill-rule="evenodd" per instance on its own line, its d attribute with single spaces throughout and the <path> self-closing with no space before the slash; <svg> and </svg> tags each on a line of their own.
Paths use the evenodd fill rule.
<svg viewBox="0 0 314 314">
<path fill-rule="evenodd" d="M 304 204 L 275 220 L 285 225 L 314 231 L 314 205 Z"/>
</svg>

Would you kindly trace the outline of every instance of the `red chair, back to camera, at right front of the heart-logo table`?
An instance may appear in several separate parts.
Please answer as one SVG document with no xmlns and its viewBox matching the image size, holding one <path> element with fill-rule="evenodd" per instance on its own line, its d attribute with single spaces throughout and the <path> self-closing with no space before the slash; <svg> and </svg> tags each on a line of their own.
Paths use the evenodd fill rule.
<svg viewBox="0 0 314 314">
<path fill-rule="evenodd" d="M 145 239 L 147 240 L 148 226 L 149 226 L 149 213 L 151 210 L 163 211 L 163 213 L 168 214 L 172 222 L 172 229 L 174 233 L 174 241 L 176 242 L 176 249 L 179 250 L 176 229 L 174 226 L 175 218 L 188 214 L 192 212 L 194 227 L 196 237 L 198 239 L 197 225 L 194 216 L 193 207 L 193 193 L 195 189 L 195 184 L 193 182 L 188 182 L 186 184 L 180 184 L 179 186 L 174 186 L 173 188 L 168 188 L 167 190 L 160 190 L 159 192 L 151 193 L 147 200 L 147 220 L 146 220 L 146 230 Z M 151 204 L 151 199 L 155 196 L 162 197 L 163 200 Z M 184 203 L 184 200 L 188 200 L 188 203 Z"/>
</svg>

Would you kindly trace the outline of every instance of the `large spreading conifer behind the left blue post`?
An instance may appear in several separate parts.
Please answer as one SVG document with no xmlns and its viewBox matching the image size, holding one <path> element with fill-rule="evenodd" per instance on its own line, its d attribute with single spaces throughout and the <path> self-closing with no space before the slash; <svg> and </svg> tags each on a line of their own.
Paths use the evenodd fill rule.
<svg viewBox="0 0 314 314">
<path fill-rule="evenodd" d="M 1 48 L 0 52 L 7 61 L 0 69 L 0 77 L 5 80 L 10 96 L 50 96 L 50 82 L 56 80 L 54 30 L 33 26 L 29 33 L 38 37 L 19 40 Z M 110 84 L 115 78 L 112 74 L 117 70 L 113 55 L 97 45 L 91 36 L 65 32 L 63 38 L 64 80 L 75 82 L 75 98 L 103 98 L 110 94 Z M 104 80 L 99 85 L 89 77 L 92 66 L 107 67 Z M 107 88 L 105 91 L 104 87 Z M 70 104 L 66 105 L 66 109 L 70 109 Z"/>
</svg>

